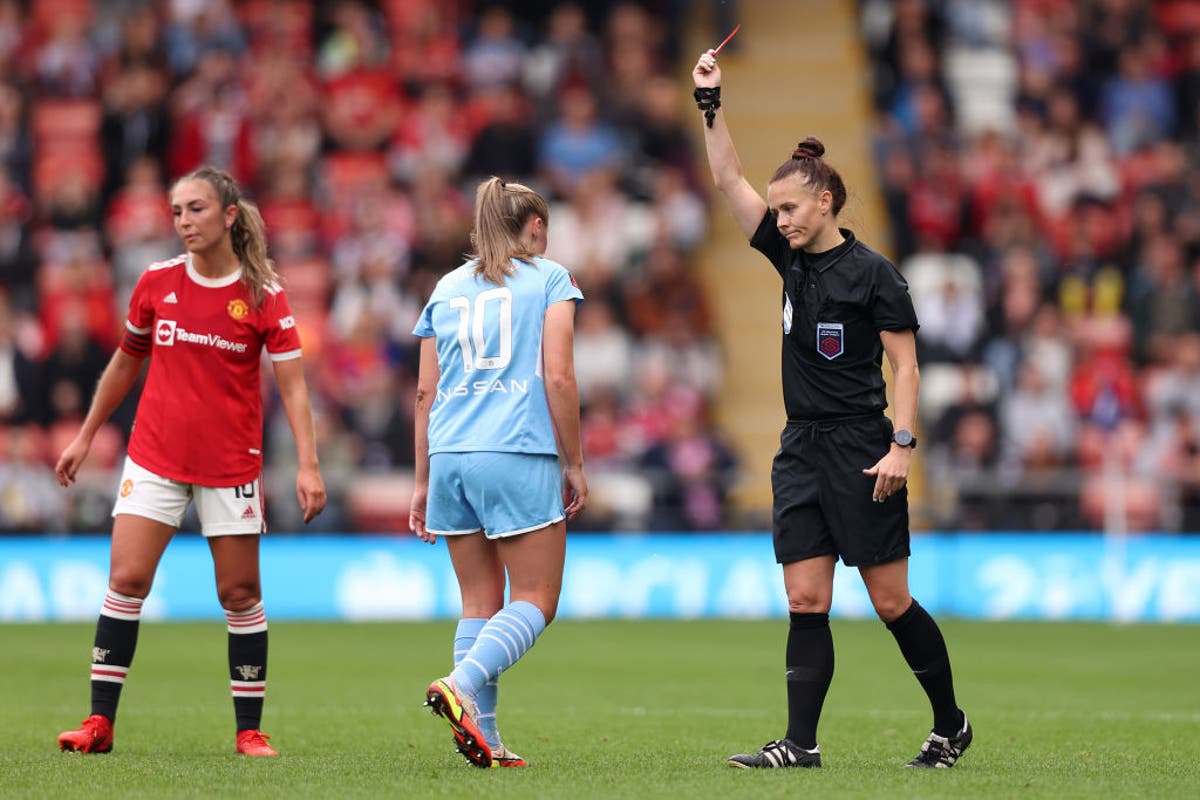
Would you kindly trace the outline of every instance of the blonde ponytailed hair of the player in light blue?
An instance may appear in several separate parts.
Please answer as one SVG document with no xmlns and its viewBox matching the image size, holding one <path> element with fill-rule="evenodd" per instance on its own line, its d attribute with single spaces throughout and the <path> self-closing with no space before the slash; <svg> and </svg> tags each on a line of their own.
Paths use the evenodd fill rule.
<svg viewBox="0 0 1200 800">
<path fill-rule="evenodd" d="M 506 184 L 499 178 L 490 178 L 475 191 L 475 228 L 470 231 L 470 243 L 478 258 L 475 275 L 496 284 L 512 275 L 512 259 L 533 263 L 534 253 L 521 241 L 529 217 L 539 217 L 550 224 L 550 206 L 535 191 L 522 184 Z"/>
</svg>

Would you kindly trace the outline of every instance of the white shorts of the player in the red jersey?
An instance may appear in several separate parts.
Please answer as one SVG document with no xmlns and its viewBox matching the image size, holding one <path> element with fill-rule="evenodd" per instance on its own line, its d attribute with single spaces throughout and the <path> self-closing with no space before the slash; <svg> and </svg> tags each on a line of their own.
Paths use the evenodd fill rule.
<svg viewBox="0 0 1200 800">
<path fill-rule="evenodd" d="M 113 516 L 130 513 L 178 529 L 191 500 L 196 500 L 200 533 L 205 536 L 262 534 L 266 530 L 262 477 L 228 488 L 181 483 L 138 467 L 128 456 Z"/>
</svg>

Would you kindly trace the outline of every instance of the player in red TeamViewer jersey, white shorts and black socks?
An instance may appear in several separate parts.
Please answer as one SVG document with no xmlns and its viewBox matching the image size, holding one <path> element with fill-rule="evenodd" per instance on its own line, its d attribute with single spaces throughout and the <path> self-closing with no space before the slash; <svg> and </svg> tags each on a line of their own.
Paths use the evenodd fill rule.
<svg viewBox="0 0 1200 800">
<path fill-rule="evenodd" d="M 299 453 L 296 494 L 308 522 L 325 507 L 300 337 L 266 257 L 258 209 L 227 174 L 202 168 L 170 190 L 187 252 L 151 264 L 130 299 L 125 337 L 96 386 L 76 439 L 55 467 L 68 486 L 92 437 L 150 359 L 113 509 L 108 594 L 96 624 L 91 716 L 59 735 L 83 753 L 113 748 L 113 720 L 133 661 L 142 604 L 190 501 L 212 552 L 229 631 L 236 752 L 275 756 L 259 730 L 266 687 L 266 615 L 258 570 L 265 348 Z"/>
</svg>

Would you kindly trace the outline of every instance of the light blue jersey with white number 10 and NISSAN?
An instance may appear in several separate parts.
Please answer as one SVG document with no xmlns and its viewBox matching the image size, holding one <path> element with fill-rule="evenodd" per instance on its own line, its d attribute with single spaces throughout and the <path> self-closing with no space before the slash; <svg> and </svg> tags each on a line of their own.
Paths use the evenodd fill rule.
<svg viewBox="0 0 1200 800">
<path fill-rule="evenodd" d="M 546 308 L 580 302 L 583 293 L 562 264 L 512 264 L 504 285 L 474 275 L 474 260 L 450 272 L 413 329 L 436 338 L 442 372 L 430 409 L 430 455 L 558 453 L 541 368 L 542 326 Z"/>
</svg>

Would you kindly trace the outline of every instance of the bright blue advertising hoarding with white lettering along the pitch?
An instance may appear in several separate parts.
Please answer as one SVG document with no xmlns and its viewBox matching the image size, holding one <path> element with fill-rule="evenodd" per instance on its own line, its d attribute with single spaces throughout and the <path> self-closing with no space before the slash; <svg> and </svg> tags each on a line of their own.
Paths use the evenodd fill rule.
<svg viewBox="0 0 1200 800">
<path fill-rule="evenodd" d="M 913 537 L 912 593 L 968 619 L 1200 622 L 1200 537 L 931 534 Z M 442 542 L 412 536 L 266 536 L 271 619 L 422 620 L 457 616 Z M 92 620 L 108 573 L 104 537 L 0 539 L 0 621 Z M 559 616 L 786 615 L 767 534 L 577 535 L 568 546 Z M 833 613 L 870 618 L 856 571 L 841 565 Z M 167 548 L 144 619 L 223 619 L 208 546 Z"/>
</svg>

